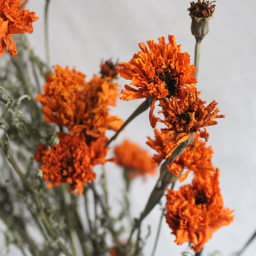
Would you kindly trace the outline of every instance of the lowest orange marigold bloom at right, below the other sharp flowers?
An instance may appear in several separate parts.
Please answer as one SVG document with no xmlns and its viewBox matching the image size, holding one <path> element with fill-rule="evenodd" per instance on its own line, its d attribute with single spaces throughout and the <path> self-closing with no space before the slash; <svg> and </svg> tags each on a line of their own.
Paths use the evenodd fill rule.
<svg viewBox="0 0 256 256">
<path fill-rule="evenodd" d="M 207 180 L 194 178 L 192 186 L 168 190 L 165 218 L 178 245 L 189 242 L 194 252 L 200 252 L 217 229 L 234 220 L 233 211 L 223 208 L 219 175 L 216 170 Z"/>
</svg>

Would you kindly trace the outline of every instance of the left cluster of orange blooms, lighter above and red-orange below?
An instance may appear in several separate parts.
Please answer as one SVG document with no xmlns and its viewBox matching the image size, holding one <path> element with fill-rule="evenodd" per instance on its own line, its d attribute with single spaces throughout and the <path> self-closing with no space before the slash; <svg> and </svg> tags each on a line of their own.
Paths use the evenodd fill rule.
<svg viewBox="0 0 256 256">
<path fill-rule="evenodd" d="M 70 134 L 59 133 L 59 144 L 49 149 L 39 145 L 34 157 L 43 163 L 42 172 L 48 188 L 61 183 L 70 184 L 70 191 L 82 194 L 84 183 L 96 179 L 93 165 L 104 164 L 108 148 L 107 129 L 117 130 L 122 121 L 108 113 L 108 106 L 116 104 L 118 85 L 112 78 L 93 76 L 85 82 L 85 75 L 55 66 L 55 73 L 47 77 L 44 94 L 36 100 L 42 105 L 45 121 L 66 126 Z"/>
</svg>

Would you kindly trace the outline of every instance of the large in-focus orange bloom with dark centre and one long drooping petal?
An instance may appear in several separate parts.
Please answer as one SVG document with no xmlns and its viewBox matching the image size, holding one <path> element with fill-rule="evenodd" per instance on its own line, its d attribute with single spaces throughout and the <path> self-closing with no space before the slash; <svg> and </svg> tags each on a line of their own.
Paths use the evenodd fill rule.
<svg viewBox="0 0 256 256">
<path fill-rule="evenodd" d="M 168 43 L 164 37 L 147 41 L 148 48 L 140 43 L 140 51 L 134 54 L 130 62 L 119 63 L 119 74 L 131 80 L 122 90 L 122 100 L 152 97 L 150 111 L 151 125 L 154 127 L 156 118 L 153 115 L 154 103 L 157 99 L 176 96 L 180 88 L 194 86 L 196 68 L 190 65 L 188 53 L 181 53 L 180 45 L 176 44 L 174 36 L 168 36 Z"/>
</svg>

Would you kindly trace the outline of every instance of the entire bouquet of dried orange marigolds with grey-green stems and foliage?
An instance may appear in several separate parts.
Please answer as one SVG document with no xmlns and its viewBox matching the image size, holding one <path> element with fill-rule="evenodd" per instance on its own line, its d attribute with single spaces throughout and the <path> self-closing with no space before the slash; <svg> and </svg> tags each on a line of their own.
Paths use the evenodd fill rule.
<svg viewBox="0 0 256 256">
<path fill-rule="evenodd" d="M 91 80 L 76 68 L 51 68 L 48 51 L 46 62 L 36 56 L 24 33 L 33 32 L 39 17 L 26 4 L 0 0 L 0 218 L 7 227 L 6 248 L 15 245 L 22 255 L 36 256 L 143 255 L 143 220 L 164 198 L 160 225 L 165 217 L 174 243 L 188 243 L 183 255 L 202 255 L 212 234 L 234 219 L 224 207 L 220 170 L 206 144 L 206 128 L 225 116 L 217 102 L 207 105 L 196 87 L 214 1 L 191 2 L 188 8 L 196 39 L 194 65 L 169 35 L 140 43 L 128 62 L 102 61 Z M 128 81 L 121 94 L 119 76 Z M 111 114 L 117 99 L 145 100 L 122 121 Z M 148 137 L 147 145 L 154 156 L 131 140 L 113 146 L 119 133 L 148 110 L 155 136 Z M 114 135 L 109 137 L 108 131 Z M 111 148 L 114 155 L 109 157 Z M 95 165 L 102 166 L 97 174 Z M 117 216 L 109 203 L 110 165 L 123 169 L 125 181 Z M 158 177 L 156 185 L 140 216 L 132 218 L 131 183 L 147 175 Z M 177 183 L 180 187 L 174 188 Z"/>
</svg>

